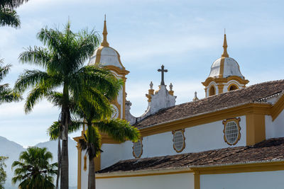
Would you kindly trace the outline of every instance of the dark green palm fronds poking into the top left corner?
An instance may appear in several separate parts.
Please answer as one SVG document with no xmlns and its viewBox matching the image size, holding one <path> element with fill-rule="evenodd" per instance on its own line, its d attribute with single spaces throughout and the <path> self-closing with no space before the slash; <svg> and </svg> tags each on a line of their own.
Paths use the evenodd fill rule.
<svg viewBox="0 0 284 189">
<path fill-rule="evenodd" d="M 20 18 L 14 8 L 17 8 L 28 0 L 1 0 L 0 1 L 0 26 L 9 25 L 18 28 Z"/>
</svg>

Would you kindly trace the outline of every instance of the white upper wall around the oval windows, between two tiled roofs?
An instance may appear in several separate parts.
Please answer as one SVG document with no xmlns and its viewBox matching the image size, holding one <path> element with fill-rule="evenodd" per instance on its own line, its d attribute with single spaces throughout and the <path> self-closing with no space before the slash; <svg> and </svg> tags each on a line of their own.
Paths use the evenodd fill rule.
<svg viewBox="0 0 284 189">
<path fill-rule="evenodd" d="M 192 152 L 221 149 L 226 147 L 241 147 L 246 145 L 246 117 L 241 116 L 241 139 L 234 146 L 224 141 L 224 125 L 222 120 L 204 125 L 185 128 L 185 149 L 177 153 L 173 149 L 172 132 L 164 132 L 143 137 L 143 154 L 141 158 L 184 154 Z M 119 160 L 134 159 L 132 155 L 133 142 L 122 144 L 102 144 L 104 151 L 101 156 L 101 166 L 105 168 Z"/>
</svg>

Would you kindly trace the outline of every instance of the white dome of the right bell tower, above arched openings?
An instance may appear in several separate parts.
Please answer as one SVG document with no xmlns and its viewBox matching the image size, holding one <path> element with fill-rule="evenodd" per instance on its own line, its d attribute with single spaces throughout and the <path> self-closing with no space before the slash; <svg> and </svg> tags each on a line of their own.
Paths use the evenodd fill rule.
<svg viewBox="0 0 284 189">
<path fill-rule="evenodd" d="M 224 69 L 222 68 L 223 61 L 224 61 Z M 229 76 L 239 76 L 242 79 L 244 79 L 244 76 L 241 74 L 241 71 L 239 69 L 238 62 L 236 62 L 236 60 L 230 57 L 221 57 L 212 64 L 209 77 L 218 78 L 219 75 L 223 75 L 224 78 Z"/>
</svg>

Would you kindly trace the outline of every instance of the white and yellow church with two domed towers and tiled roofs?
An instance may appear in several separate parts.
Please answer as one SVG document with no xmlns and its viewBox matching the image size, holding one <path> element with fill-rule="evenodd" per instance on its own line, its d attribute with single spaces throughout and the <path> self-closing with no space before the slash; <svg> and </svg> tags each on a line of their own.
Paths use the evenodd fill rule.
<svg viewBox="0 0 284 189">
<path fill-rule="evenodd" d="M 103 152 L 94 159 L 98 189 L 284 188 L 284 80 L 247 86 L 224 35 L 224 52 L 202 82 L 205 98 L 195 93 L 191 102 L 175 105 L 162 65 L 160 86 L 154 89 L 151 82 L 148 108 L 136 118 L 126 99 L 129 71 L 109 47 L 106 21 L 103 36 L 89 64 L 102 64 L 124 79 L 112 102 L 113 118 L 128 120 L 141 139 L 119 143 L 102 135 Z M 77 188 L 85 189 L 89 159 L 79 144 L 77 149 Z"/>
</svg>

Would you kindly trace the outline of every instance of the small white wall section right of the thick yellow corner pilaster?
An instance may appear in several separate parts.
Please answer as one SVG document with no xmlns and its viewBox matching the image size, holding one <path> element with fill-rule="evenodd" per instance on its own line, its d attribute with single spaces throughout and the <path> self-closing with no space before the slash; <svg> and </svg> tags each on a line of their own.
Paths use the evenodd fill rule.
<svg viewBox="0 0 284 189">
<path fill-rule="evenodd" d="M 270 115 L 266 115 L 266 139 L 284 137 L 284 110 L 272 121 Z"/>
</svg>

